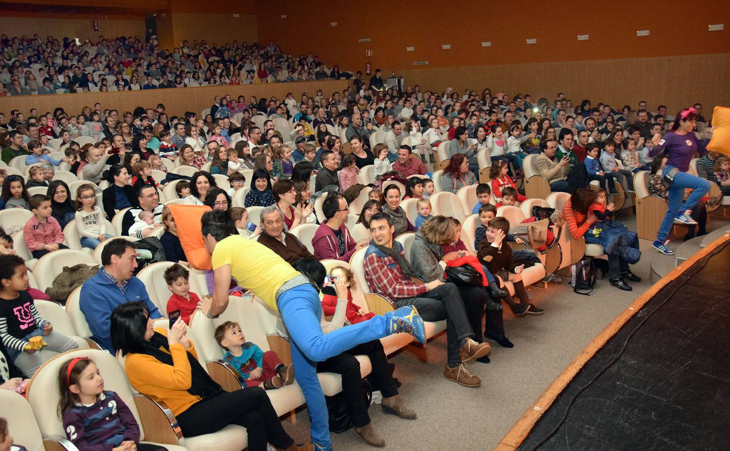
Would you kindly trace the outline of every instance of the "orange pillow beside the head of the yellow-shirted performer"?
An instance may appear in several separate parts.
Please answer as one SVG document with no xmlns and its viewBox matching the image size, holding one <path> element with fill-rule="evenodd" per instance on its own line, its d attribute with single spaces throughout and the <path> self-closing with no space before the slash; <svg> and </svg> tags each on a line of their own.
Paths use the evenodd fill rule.
<svg viewBox="0 0 730 451">
<path fill-rule="evenodd" d="M 203 235 L 200 233 L 201 217 L 210 212 L 205 205 L 169 204 L 167 206 L 175 218 L 177 238 L 185 251 L 188 263 L 195 269 L 212 269 L 210 254 L 205 250 Z"/>
</svg>

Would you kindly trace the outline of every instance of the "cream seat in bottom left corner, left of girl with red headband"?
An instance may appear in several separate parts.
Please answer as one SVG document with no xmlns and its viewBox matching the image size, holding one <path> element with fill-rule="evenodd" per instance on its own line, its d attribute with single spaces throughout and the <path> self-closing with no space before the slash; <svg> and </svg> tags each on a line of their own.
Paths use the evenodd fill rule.
<svg viewBox="0 0 730 451">
<path fill-rule="evenodd" d="M 75 450 L 66 434 L 48 434 L 43 436 L 31 405 L 26 398 L 12 390 L 0 390 L 0 415 L 7 420 L 7 429 L 15 443 L 23 444 L 28 451 L 45 451 L 44 441 L 48 441 L 49 449 Z M 52 408 L 47 407 L 49 410 Z M 11 448 L 12 449 L 12 448 Z"/>
</svg>

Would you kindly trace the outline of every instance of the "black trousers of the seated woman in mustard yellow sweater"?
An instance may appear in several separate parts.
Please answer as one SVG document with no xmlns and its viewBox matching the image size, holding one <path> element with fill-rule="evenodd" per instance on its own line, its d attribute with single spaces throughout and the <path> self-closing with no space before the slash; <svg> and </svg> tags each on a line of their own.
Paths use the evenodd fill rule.
<svg viewBox="0 0 730 451">
<path fill-rule="evenodd" d="M 263 388 L 248 387 L 193 404 L 177 415 L 184 437 L 220 431 L 239 425 L 248 432 L 248 449 L 266 451 L 266 444 L 288 448 L 293 444 Z"/>
</svg>

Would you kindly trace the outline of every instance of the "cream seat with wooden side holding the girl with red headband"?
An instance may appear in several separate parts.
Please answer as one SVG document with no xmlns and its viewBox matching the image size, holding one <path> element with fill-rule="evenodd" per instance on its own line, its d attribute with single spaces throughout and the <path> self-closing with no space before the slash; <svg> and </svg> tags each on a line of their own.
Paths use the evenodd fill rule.
<svg viewBox="0 0 730 451">
<path fill-rule="evenodd" d="M 160 407 L 155 405 L 150 398 L 135 394 L 119 362 L 109 352 L 101 350 L 71 350 L 56 355 L 41 366 L 31 379 L 26 396 L 44 436 L 66 436 L 64 423 L 58 418 L 56 409 L 50 408 L 50 406 L 58 405 L 58 371 L 66 361 L 77 357 L 88 357 L 96 363 L 101 376 L 104 377 L 104 390 L 112 390 L 117 393 L 137 420 L 142 442 L 159 444 L 170 451 L 185 450 L 182 436 L 179 436 L 178 439 L 179 430 L 176 433 L 172 425 L 163 426 L 164 423 L 155 422 L 155 417 L 153 417 L 155 414 L 160 415 L 157 417 L 158 420 L 166 420 L 165 413 L 161 411 Z M 172 414 L 170 415 L 172 416 Z M 239 440 L 239 443 L 243 442 L 245 446 L 246 434 L 241 433 L 241 436 L 242 440 Z M 158 439 L 166 439 L 166 442 L 158 441 Z M 192 448 L 188 447 L 188 449 Z M 228 448 L 231 451 L 233 449 Z"/>
</svg>

